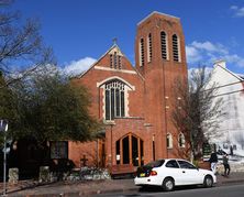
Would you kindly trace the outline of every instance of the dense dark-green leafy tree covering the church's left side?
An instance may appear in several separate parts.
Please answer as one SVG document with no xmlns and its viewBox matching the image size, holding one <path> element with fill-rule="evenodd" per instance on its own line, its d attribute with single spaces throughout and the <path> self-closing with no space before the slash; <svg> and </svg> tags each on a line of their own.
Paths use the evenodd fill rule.
<svg viewBox="0 0 244 197">
<path fill-rule="evenodd" d="M 12 130 L 18 138 L 45 141 L 89 141 L 98 138 L 100 123 L 89 114 L 89 94 L 76 87 L 55 66 L 36 72 L 15 88 L 19 121 Z"/>
</svg>

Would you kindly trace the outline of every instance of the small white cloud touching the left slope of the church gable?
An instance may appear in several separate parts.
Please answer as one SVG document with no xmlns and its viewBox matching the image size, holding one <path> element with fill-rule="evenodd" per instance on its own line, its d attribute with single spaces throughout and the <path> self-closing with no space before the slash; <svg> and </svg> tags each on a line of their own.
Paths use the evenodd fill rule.
<svg viewBox="0 0 244 197">
<path fill-rule="evenodd" d="M 73 61 L 63 68 L 63 72 L 70 76 L 80 75 L 81 73 L 89 69 L 90 66 L 96 63 L 96 61 L 97 59 L 92 57 L 85 57 L 80 58 L 79 61 Z"/>
</svg>

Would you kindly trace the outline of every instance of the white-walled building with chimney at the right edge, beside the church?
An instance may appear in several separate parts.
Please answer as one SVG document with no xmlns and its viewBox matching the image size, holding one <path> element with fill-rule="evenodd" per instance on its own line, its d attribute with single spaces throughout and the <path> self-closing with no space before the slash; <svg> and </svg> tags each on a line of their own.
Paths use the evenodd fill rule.
<svg viewBox="0 0 244 197">
<path fill-rule="evenodd" d="M 224 61 L 215 62 L 211 81 L 217 84 L 217 98 L 222 98 L 222 111 L 217 135 L 210 142 L 217 151 L 230 154 L 230 160 L 244 161 L 244 75 L 235 74 L 226 68 Z"/>
</svg>

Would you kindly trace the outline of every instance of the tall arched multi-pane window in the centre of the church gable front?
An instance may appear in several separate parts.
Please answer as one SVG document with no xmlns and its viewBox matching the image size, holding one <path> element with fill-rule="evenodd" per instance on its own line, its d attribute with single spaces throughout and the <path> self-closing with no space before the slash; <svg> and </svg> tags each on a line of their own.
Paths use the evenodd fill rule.
<svg viewBox="0 0 244 197">
<path fill-rule="evenodd" d="M 120 80 L 106 84 L 106 120 L 124 117 L 124 86 Z"/>
</svg>

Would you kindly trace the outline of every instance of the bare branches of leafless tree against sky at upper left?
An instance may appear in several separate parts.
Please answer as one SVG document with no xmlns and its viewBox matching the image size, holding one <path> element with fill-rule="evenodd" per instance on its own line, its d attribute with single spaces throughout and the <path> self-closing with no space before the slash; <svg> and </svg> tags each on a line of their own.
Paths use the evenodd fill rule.
<svg viewBox="0 0 244 197">
<path fill-rule="evenodd" d="M 19 12 L 8 12 L 10 4 L 0 0 L 0 72 L 4 76 L 4 86 L 54 63 L 52 50 L 44 45 L 40 35 L 37 20 L 22 22 Z"/>
</svg>

